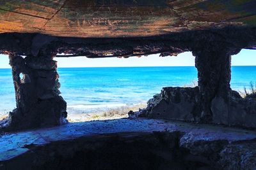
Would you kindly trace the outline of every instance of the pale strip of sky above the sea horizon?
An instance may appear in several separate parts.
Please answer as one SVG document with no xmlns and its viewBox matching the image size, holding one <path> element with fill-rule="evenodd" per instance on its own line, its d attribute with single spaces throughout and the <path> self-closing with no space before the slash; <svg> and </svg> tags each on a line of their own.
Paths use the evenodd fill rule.
<svg viewBox="0 0 256 170">
<path fill-rule="evenodd" d="M 105 58 L 88 59 L 86 57 L 55 58 L 58 67 L 139 67 L 139 66 L 195 66 L 195 57 L 191 52 L 181 53 L 177 57 L 129 57 L 128 59 Z M 242 50 L 232 56 L 232 66 L 256 66 L 256 50 Z M 0 55 L 0 68 L 10 68 L 7 55 Z"/>
</svg>

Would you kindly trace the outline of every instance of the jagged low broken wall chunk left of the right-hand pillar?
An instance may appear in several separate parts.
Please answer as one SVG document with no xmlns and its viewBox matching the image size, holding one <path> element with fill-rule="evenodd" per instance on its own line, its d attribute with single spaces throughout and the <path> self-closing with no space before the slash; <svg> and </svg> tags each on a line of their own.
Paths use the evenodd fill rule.
<svg viewBox="0 0 256 170">
<path fill-rule="evenodd" d="M 164 87 L 161 94 L 148 101 L 147 108 L 141 113 L 152 118 L 196 121 L 202 112 L 199 99 L 198 87 Z"/>
</svg>

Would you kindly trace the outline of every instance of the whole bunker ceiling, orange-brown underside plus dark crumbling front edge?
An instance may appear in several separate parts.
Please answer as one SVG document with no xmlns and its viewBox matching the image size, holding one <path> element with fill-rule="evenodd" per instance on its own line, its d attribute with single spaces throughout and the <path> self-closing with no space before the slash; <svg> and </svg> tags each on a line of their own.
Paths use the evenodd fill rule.
<svg viewBox="0 0 256 170">
<path fill-rule="evenodd" d="M 255 6 L 255 0 L 3 0 L 0 52 L 166 56 L 212 41 L 254 49 Z"/>
</svg>

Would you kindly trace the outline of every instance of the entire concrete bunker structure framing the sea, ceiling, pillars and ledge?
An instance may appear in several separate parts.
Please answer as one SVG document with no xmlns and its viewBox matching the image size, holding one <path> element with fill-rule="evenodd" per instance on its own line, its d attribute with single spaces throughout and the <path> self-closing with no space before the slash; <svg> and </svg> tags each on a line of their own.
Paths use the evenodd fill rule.
<svg viewBox="0 0 256 170">
<path fill-rule="evenodd" d="M 256 47 L 255 1 L 17 2 L 0 3 L 0 52 L 10 56 L 17 103 L 1 121 L 0 169 L 255 169 L 256 101 L 230 89 L 230 56 Z M 132 118 L 65 124 L 58 53 L 188 51 L 198 87 L 164 88 Z"/>
</svg>

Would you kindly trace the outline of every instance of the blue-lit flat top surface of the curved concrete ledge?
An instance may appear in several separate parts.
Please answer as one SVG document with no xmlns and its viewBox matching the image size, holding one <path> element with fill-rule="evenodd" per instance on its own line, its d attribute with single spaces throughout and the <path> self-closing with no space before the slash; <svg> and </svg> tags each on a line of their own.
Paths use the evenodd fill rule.
<svg viewBox="0 0 256 170">
<path fill-rule="evenodd" d="M 193 141 L 227 140 L 246 141 L 256 139 L 255 131 L 234 129 L 214 125 L 195 125 L 184 122 L 152 120 L 147 118 L 81 122 L 61 125 L 38 130 L 2 134 L 0 137 L 0 162 L 14 159 L 29 152 L 28 146 L 44 146 L 54 141 L 68 141 L 81 137 L 92 137 L 122 133 L 152 133 L 152 132 L 184 133 L 182 139 Z M 182 141 L 180 139 L 180 141 Z"/>
</svg>

